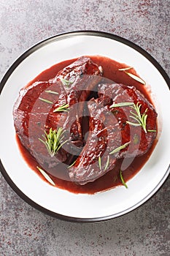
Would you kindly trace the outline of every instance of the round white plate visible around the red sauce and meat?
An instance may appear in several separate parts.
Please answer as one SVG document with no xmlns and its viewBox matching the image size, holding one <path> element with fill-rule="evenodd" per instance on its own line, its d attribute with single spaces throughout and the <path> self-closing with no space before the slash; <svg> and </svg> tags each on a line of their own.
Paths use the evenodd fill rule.
<svg viewBox="0 0 170 256">
<path fill-rule="evenodd" d="M 20 155 L 15 140 L 12 107 L 23 86 L 60 61 L 82 55 L 107 56 L 134 67 L 152 89 L 158 111 L 158 144 L 128 189 L 117 187 L 95 195 L 76 195 L 50 186 L 32 171 Z M 1 172 L 31 206 L 61 219 L 92 222 L 119 217 L 141 206 L 169 175 L 170 109 L 169 78 L 155 59 L 126 39 L 96 31 L 77 31 L 46 39 L 23 53 L 1 81 Z"/>
</svg>

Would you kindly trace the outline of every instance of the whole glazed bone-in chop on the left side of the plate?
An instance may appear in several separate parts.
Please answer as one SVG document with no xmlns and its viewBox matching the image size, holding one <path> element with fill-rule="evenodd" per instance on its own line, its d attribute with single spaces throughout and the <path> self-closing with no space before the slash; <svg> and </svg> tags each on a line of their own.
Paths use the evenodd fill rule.
<svg viewBox="0 0 170 256">
<path fill-rule="evenodd" d="M 93 75 L 95 75 L 94 78 Z M 15 129 L 23 146 L 30 151 L 40 165 L 53 167 L 70 157 L 70 154 L 63 148 L 57 152 L 55 157 L 47 154 L 47 148 L 39 138 L 45 135 L 45 131 L 48 133 L 50 128 L 62 127 L 64 129 L 68 127 L 67 124 L 72 124 L 71 135 L 64 134 L 64 136 L 69 136 L 69 141 L 73 141 L 76 148 L 82 146 L 82 120 L 80 118 L 84 109 L 83 105 L 79 105 L 79 108 L 72 108 L 69 114 L 66 111 L 53 112 L 53 110 L 65 104 L 71 107 L 85 101 L 98 83 L 97 75 L 101 75 L 101 69 L 90 58 L 81 57 L 58 72 L 55 78 L 47 82 L 33 83 L 20 90 L 13 108 Z"/>
</svg>

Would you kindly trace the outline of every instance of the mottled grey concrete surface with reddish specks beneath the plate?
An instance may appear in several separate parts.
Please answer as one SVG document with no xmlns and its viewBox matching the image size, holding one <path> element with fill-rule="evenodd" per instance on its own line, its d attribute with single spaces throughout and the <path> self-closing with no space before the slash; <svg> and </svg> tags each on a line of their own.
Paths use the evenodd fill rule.
<svg viewBox="0 0 170 256">
<path fill-rule="evenodd" d="M 0 79 L 40 40 L 80 29 L 135 42 L 169 74 L 169 10 L 169 0 L 0 0 Z M 0 182 L 1 256 L 170 255 L 170 179 L 135 211 L 93 224 L 48 217 L 21 200 L 1 174 Z"/>
</svg>

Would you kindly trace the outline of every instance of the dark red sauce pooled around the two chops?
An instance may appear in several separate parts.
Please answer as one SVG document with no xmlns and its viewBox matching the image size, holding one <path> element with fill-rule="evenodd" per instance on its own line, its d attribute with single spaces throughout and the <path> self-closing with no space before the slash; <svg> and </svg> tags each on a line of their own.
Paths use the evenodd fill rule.
<svg viewBox="0 0 170 256">
<path fill-rule="evenodd" d="M 129 77 L 127 74 L 125 74 L 125 72 L 118 70 L 120 68 L 127 67 L 127 65 L 118 63 L 117 61 L 113 61 L 111 59 L 101 56 L 90 56 L 90 59 L 92 59 L 96 64 L 101 65 L 103 67 L 104 78 L 109 78 L 110 80 L 113 80 L 116 83 L 123 83 L 126 86 L 135 86 L 136 89 L 141 91 L 142 94 L 144 94 L 144 97 L 146 97 L 152 103 L 150 94 L 148 93 L 146 87 L 142 85 L 142 83 L 139 83 L 133 78 Z M 39 74 L 36 78 L 34 78 L 34 80 L 28 83 L 27 86 L 31 85 L 31 83 L 34 83 L 36 81 L 47 81 L 51 78 L 54 78 L 58 71 L 63 69 L 63 67 L 66 67 L 67 65 L 71 64 L 74 60 L 75 59 L 62 61 L 59 64 L 55 64 L 53 67 L 50 67 L 50 69 L 46 69 L 41 74 Z M 131 69 L 131 73 L 137 75 L 134 69 Z M 36 168 L 36 166 L 38 165 L 36 159 L 34 159 L 34 157 L 31 156 L 27 149 L 23 147 L 22 143 L 20 143 L 20 139 L 18 138 L 18 136 L 16 136 L 16 139 L 18 142 L 18 146 L 20 148 L 20 152 L 23 155 L 23 158 L 26 160 L 28 166 L 31 167 L 31 169 L 34 170 L 43 180 L 46 181 L 46 179 L 42 176 L 41 173 L 39 173 L 39 170 L 37 170 Z M 138 173 L 142 166 L 147 162 L 150 155 L 152 154 L 153 149 L 155 148 L 155 144 L 156 140 L 152 144 L 150 150 L 147 151 L 147 153 L 144 154 L 142 157 L 136 157 L 135 159 L 127 159 L 127 161 L 132 162 L 127 169 L 123 170 L 123 179 L 125 180 L 125 182 L 131 179 L 136 173 Z M 117 160 L 117 165 L 113 170 L 109 171 L 101 178 L 98 178 L 96 181 L 90 182 L 83 186 L 77 185 L 72 181 L 66 181 L 61 178 L 56 178 L 55 176 L 52 176 L 50 174 L 49 176 L 53 179 L 56 187 L 58 188 L 66 189 L 69 192 L 74 193 L 94 194 L 96 192 L 101 192 L 122 185 L 122 182 L 120 180 L 120 166 L 122 162 L 123 159 Z"/>
</svg>

